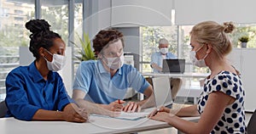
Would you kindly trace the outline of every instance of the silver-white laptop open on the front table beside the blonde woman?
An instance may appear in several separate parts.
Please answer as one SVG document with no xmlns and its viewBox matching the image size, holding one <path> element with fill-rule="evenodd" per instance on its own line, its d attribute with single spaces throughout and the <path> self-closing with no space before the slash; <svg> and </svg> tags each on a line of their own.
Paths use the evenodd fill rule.
<svg viewBox="0 0 256 134">
<path fill-rule="evenodd" d="M 153 88 L 154 88 L 154 100 L 157 108 L 160 106 L 165 106 L 167 108 L 172 108 L 172 92 L 170 87 L 170 78 L 154 77 L 152 78 Z"/>
</svg>

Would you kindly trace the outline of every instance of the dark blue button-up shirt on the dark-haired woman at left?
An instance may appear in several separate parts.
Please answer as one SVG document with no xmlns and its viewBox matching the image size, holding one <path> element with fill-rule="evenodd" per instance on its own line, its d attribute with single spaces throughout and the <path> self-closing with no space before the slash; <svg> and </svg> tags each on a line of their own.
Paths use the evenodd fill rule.
<svg viewBox="0 0 256 134">
<path fill-rule="evenodd" d="M 20 66 L 6 77 L 7 117 L 32 120 L 38 109 L 62 110 L 72 101 L 66 92 L 61 76 L 49 71 L 45 81 L 35 66 Z"/>
</svg>

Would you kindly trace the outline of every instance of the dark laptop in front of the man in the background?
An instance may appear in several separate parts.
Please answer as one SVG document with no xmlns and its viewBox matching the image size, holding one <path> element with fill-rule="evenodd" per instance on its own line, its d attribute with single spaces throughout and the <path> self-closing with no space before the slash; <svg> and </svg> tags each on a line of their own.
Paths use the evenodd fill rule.
<svg viewBox="0 0 256 134">
<path fill-rule="evenodd" d="M 179 73 L 185 71 L 185 59 L 163 59 L 163 73 Z"/>
</svg>

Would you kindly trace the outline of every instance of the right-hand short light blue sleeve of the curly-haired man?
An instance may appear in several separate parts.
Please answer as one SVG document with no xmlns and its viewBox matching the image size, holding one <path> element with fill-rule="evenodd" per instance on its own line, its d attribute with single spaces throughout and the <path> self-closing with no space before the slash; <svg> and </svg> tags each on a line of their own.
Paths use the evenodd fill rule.
<svg viewBox="0 0 256 134">
<path fill-rule="evenodd" d="M 149 86 L 148 81 L 135 68 L 132 68 L 128 74 L 128 80 L 130 87 L 137 92 L 143 93 Z"/>
</svg>

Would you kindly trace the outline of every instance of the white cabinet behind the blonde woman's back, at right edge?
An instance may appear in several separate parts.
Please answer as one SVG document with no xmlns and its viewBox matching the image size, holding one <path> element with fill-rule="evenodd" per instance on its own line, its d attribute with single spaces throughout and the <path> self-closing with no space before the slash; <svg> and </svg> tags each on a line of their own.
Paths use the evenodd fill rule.
<svg viewBox="0 0 256 134">
<path fill-rule="evenodd" d="M 245 109 L 256 109 L 256 48 L 234 48 L 228 59 L 241 72 L 241 81 L 246 92 Z"/>
</svg>

